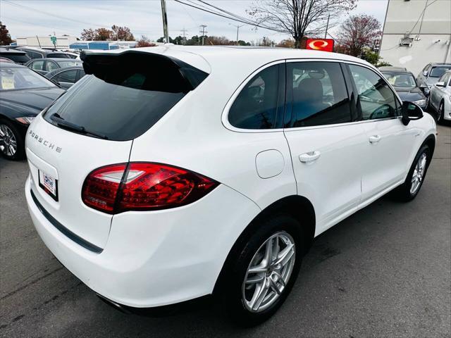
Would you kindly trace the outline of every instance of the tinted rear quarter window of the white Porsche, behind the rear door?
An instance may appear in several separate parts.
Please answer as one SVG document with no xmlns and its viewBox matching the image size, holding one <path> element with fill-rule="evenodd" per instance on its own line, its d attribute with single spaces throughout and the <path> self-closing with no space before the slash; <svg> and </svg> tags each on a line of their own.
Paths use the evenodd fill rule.
<svg viewBox="0 0 451 338">
<path fill-rule="evenodd" d="M 276 127 L 279 97 L 280 65 L 261 70 L 238 94 L 228 112 L 231 125 L 242 129 L 270 129 Z"/>
</svg>

